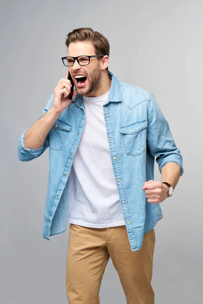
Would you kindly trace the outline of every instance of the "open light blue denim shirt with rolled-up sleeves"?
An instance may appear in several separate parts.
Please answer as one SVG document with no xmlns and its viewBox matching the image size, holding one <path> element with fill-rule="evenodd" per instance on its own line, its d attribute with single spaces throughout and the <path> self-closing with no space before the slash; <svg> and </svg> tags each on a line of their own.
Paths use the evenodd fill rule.
<svg viewBox="0 0 203 304">
<path fill-rule="evenodd" d="M 181 176 L 183 162 L 155 97 L 136 86 L 119 82 L 110 71 L 109 77 L 112 84 L 108 101 L 103 105 L 104 119 L 128 239 L 131 251 L 136 251 L 142 247 L 144 234 L 162 218 L 159 204 L 148 203 L 142 189 L 145 181 L 154 179 L 154 160 L 160 173 L 166 163 L 178 164 Z M 43 115 L 52 101 L 53 94 L 43 108 Z M 24 135 L 28 128 L 19 138 L 17 155 L 23 162 L 38 158 L 49 147 L 43 229 L 46 240 L 66 230 L 67 204 L 72 204 L 67 201 L 69 174 L 84 124 L 83 97 L 77 93 L 55 121 L 41 147 L 25 148 Z"/>
</svg>

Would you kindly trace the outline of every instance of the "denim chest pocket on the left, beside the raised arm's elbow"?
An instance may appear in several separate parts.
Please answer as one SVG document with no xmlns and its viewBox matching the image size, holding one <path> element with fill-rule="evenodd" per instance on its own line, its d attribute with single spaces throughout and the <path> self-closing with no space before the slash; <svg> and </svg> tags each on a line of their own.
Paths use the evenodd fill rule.
<svg viewBox="0 0 203 304">
<path fill-rule="evenodd" d="M 71 129 L 70 124 L 57 119 L 49 131 L 49 149 L 60 151 Z"/>
</svg>

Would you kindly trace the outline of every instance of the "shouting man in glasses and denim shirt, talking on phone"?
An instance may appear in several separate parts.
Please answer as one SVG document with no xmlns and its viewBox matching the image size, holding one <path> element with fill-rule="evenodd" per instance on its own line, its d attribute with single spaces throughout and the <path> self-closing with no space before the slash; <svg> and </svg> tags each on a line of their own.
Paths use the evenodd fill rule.
<svg viewBox="0 0 203 304">
<path fill-rule="evenodd" d="M 76 88 L 73 99 L 66 72 L 18 147 L 19 159 L 30 161 L 49 146 L 43 238 L 70 223 L 70 304 L 99 303 L 110 256 L 127 303 L 154 303 L 154 226 L 162 218 L 159 203 L 183 174 L 180 150 L 154 96 L 108 70 L 110 47 L 103 35 L 75 29 L 66 46 L 62 60 Z M 128 59 L 119 60 L 122 65 Z M 154 181 L 155 157 L 162 182 Z"/>
</svg>

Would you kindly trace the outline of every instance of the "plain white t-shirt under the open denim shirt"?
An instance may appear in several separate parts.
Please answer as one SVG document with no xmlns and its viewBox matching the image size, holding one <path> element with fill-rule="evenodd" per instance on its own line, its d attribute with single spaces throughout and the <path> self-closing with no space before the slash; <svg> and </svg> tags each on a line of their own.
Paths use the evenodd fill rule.
<svg viewBox="0 0 203 304">
<path fill-rule="evenodd" d="M 125 224 L 103 112 L 108 96 L 83 96 L 85 125 L 69 176 L 69 223 L 95 228 Z"/>
</svg>

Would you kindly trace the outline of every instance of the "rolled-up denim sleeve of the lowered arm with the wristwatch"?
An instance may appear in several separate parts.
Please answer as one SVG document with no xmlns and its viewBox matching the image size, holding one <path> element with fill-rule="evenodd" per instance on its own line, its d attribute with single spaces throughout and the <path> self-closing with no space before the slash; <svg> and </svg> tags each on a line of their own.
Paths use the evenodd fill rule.
<svg viewBox="0 0 203 304">
<path fill-rule="evenodd" d="M 160 173 L 166 163 L 172 162 L 181 167 L 181 176 L 183 175 L 183 158 L 180 150 L 176 146 L 168 122 L 152 94 L 148 103 L 147 147 L 150 154 L 156 157 Z"/>
</svg>

